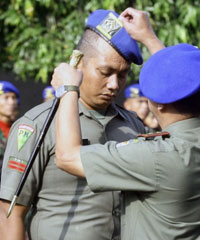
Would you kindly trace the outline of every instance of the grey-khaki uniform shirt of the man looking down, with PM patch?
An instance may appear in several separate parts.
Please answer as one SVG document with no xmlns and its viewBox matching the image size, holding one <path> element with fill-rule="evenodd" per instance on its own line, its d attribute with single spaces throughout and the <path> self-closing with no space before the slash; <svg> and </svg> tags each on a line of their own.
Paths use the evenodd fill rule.
<svg viewBox="0 0 200 240">
<path fill-rule="evenodd" d="M 4 157 L 0 198 L 11 200 L 33 146 L 46 119 L 51 102 L 25 114 L 12 127 Z M 80 104 L 83 139 L 90 144 L 126 140 L 144 132 L 142 123 L 120 107 L 112 105 L 106 115 L 88 111 Z M 30 223 L 32 240 L 110 240 L 119 218 L 118 192 L 94 194 L 86 180 L 72 176 L 55 164 L 55 119 L 41 145 L 18 199 L 33 204 Z"/>
</svg>

